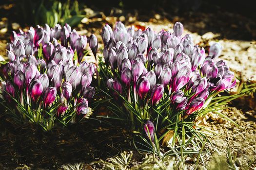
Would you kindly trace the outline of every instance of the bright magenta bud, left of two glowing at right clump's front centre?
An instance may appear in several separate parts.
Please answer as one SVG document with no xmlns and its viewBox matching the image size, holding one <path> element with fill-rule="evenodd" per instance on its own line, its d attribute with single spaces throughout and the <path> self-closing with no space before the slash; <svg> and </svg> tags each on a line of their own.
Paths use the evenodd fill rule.
<svg viewBox="0 0 256 170">
<path fill-rule="evenodd" d="M 140 99 L 144 99 L 144 97 L 150 90 L 150 83 L 148 78 L 145 76 L 141 76 L 136 83 L 136 88 Z"/>
</svg>

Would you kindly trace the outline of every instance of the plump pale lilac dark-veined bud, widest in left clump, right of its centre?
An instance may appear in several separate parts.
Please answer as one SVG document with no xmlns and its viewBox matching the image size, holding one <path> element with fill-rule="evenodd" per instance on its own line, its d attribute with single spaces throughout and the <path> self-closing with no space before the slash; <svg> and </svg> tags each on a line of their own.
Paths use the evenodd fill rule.
<svg viewBox="0 0 256 170">
<path fill-rule="evenodd" d="M 69 82 L 73 89 L 79 85 L 81 77 L 81 73 L 77 66 L 71 66 L 65 74 L 66 82 Z"/>
</svg>

